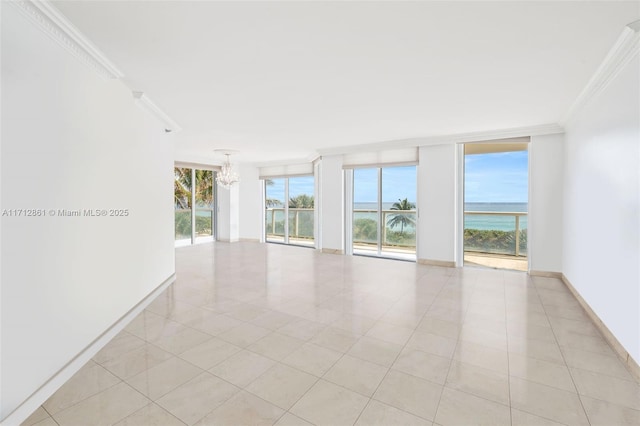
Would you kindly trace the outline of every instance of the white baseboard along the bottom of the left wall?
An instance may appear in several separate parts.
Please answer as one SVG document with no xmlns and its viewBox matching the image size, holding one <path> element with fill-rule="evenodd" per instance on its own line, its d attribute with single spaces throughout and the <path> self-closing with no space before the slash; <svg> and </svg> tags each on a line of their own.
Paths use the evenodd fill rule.
<svg viewBox="0 0 640 426">
<path fill-rule="evenodd" d="M 74 374 L 82 368 L 91 358 L 97 354 L 107 343 L 122 331 L 140 312 L 142 312 L 160 293 L 176 280 L 176 274 L 172 274 L 158 287 L 131 308 L 118 321 L 98 336 L 85 347 L 78 355 L 58 370 L 49 380 L 31 394 L 22 404 L 13 410 L 0 424 L 4 426 L 17 426 L 24 422 L 34 411 L 38 409 L 51 395 L 65 384 Z"/>
</svg>

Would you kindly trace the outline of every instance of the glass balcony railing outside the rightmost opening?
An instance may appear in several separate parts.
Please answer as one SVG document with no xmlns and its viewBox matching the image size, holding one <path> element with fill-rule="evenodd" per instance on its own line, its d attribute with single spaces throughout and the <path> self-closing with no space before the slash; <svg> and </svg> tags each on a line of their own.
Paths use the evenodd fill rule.
<svg viewBox="0 0 640 426">
<path fill-rule="evenodd" d="M 464 250 L 527 256 L 527 213 L 464 212 Z"/>
</svg>

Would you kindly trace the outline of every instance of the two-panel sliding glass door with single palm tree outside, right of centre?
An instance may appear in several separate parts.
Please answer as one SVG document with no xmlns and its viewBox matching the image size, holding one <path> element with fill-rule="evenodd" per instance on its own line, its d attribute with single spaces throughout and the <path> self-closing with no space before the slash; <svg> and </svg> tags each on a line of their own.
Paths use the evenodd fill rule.
<svg viewBox="0 0 640 426">
<path fill-rule="evenodd" d="M 416 167 L 348 170 L 353 184 L 351 252 L 416 258 Z"/>
</svg>

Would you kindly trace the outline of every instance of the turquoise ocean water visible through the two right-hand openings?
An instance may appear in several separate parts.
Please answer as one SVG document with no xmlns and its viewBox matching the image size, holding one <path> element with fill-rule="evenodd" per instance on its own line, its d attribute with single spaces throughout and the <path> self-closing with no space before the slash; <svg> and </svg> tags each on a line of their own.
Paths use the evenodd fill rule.
<svg viewBox="0 0 640 426">
<path fill-rule="evenodd" d="M 382 203 L 382 210 L 390 210 L 393 203 Z M 355 219 L 367 218 L 377 219 L 377 213 L 375 212 L 358 212 L 357 210 L 376 210 L 377 203 L 354 203 Z M 465 203 L 465 211 L 474 212 L 512 212 L 512 213 L 526 213 L 528 209 L 527 203 Z M 515 216 L 486 216 L 486 215 L 465 215 L 464 227 L 465 229 L 480 229 L 480 230 L 499 230 L 499 231 L 513 231 L 515 230 L 516 219 Z M 408 232 L 413 231 L 406 229 Z M 527 216 L 520 217 L 520 229 L 527 229 Z"/>
</svg>

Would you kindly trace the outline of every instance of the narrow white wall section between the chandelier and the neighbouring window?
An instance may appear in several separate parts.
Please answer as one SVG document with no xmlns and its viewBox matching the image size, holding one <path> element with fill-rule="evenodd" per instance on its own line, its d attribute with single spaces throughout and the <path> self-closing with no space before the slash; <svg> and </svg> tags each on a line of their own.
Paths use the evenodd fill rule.
<svg viewBox="0 0 640 426">
<path fill-rule="evenodd" d="M 241 165 L 240 168 L 240 239 L 259 241 L 262 239 L 262 183 L 258 168 Z"/>
</svg>

